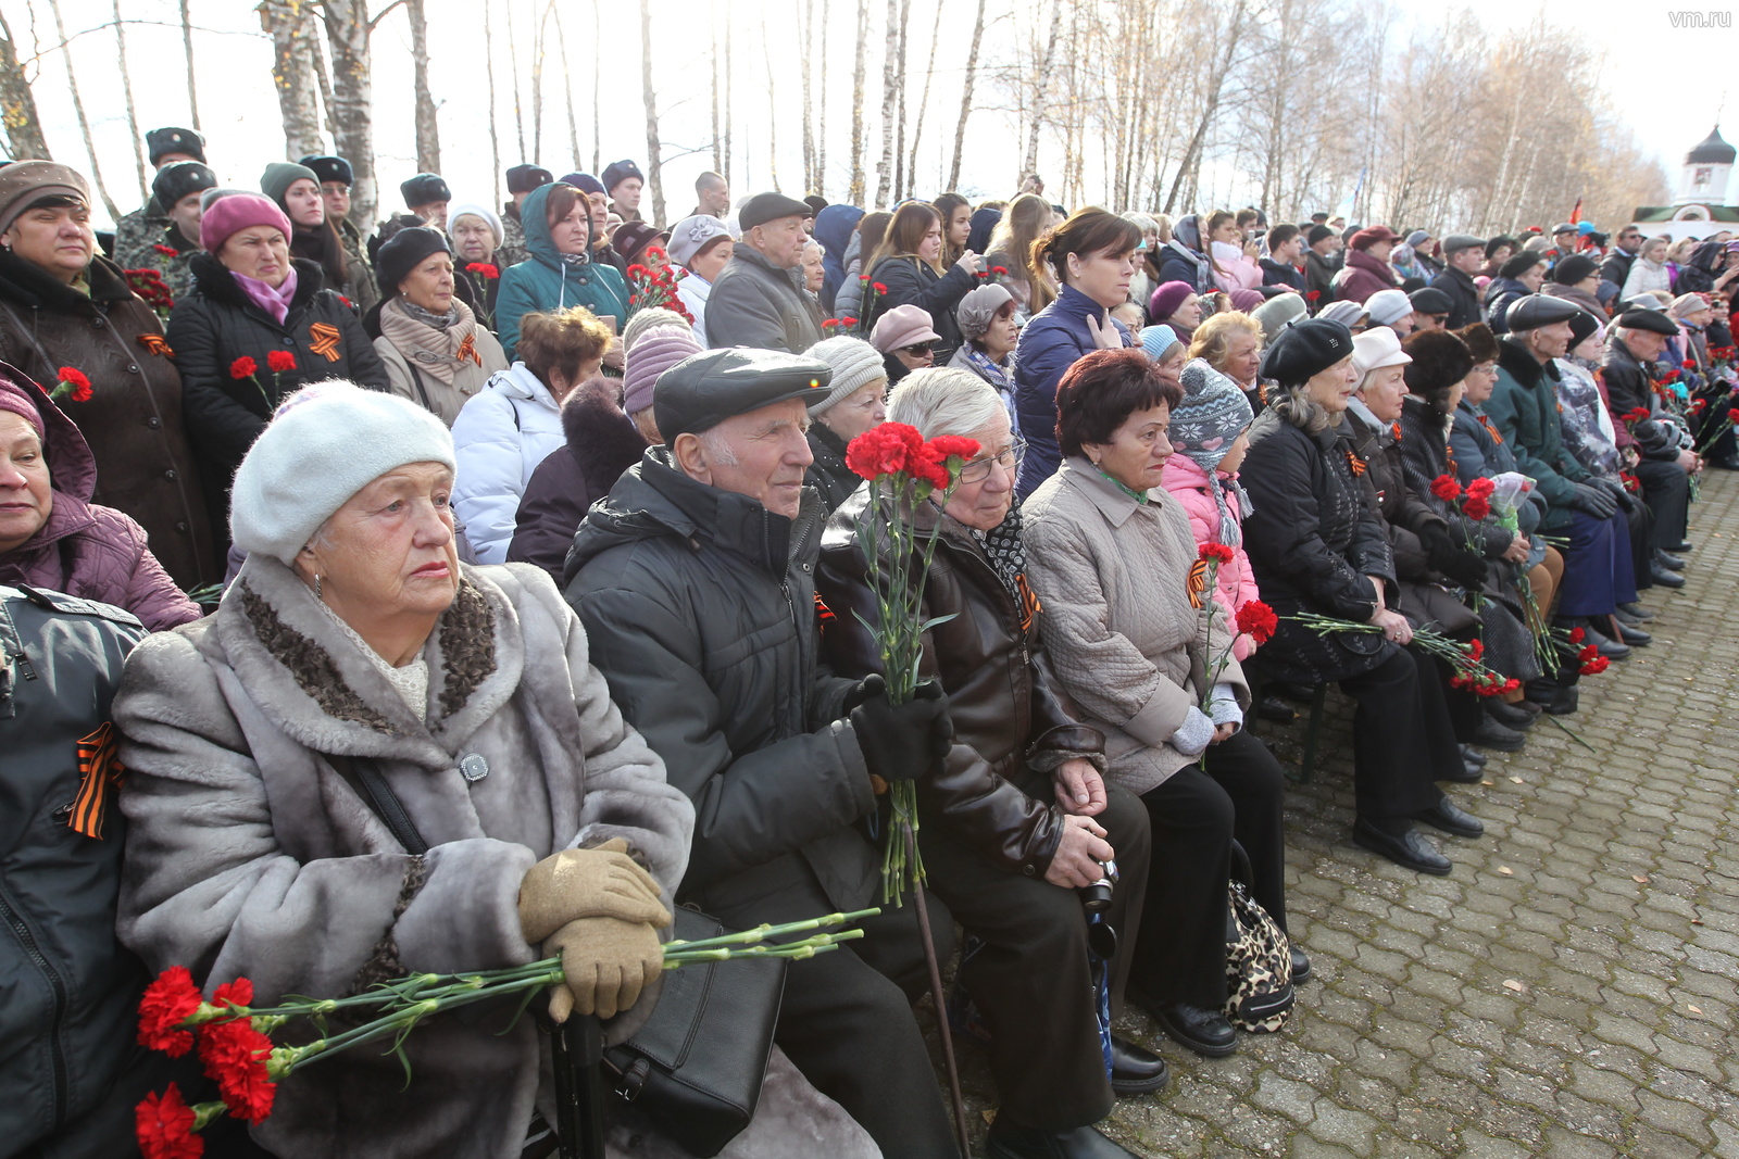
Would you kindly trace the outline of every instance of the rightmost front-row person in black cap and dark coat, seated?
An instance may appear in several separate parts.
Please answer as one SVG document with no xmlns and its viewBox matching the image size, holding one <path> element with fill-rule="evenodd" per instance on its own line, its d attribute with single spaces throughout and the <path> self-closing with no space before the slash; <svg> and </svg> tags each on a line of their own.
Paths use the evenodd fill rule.
<svg viewBox="0 0 1739 1159">
<path fill-rule="evenodd" d="M 1666 353 L 1668 339 L 1678 335 L 1678 323 L 1659 309 L 1628 309 L 1619 315 L 1607 337 L 1602 365 L 1612 424 L 1624 429 L 1624 415 L 1647 410 L 1649 419 L 1629 424 L 1642 455 L 1635 474 L 1642 480 L 1643 502 L 1654 513 L 1654 556 L 1650 573 L 1662 587 L 1683 587 L 1676 575 L 1689 551 L 1685 542 L 1690 509 L 1690 476 L 1702 469 L 1702 459 L 1690 450 L 1690 433 L 1673 422 L 1650 387 L 1650 367 Z"/>
</svg>

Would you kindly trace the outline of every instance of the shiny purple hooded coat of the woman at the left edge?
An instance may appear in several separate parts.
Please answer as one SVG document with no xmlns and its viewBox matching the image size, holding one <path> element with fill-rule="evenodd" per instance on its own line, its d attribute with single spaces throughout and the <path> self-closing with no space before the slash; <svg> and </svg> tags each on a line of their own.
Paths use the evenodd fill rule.
<svg viewBox="0 0 1739 1159">
<path fill-rule="evenodd" d="M 73 421 L 28 375 L 0 363 L 0 391 L 12 389 L 30 396 L 42 415 L 54 509 L 35 535 L 0 554 L 0 584 L 111 603 L 153 632 L 200 619 L 200 606 L 146 547 L 144 528 L 115 507 L 90 502 L 97 466 Z"/>
</svg>

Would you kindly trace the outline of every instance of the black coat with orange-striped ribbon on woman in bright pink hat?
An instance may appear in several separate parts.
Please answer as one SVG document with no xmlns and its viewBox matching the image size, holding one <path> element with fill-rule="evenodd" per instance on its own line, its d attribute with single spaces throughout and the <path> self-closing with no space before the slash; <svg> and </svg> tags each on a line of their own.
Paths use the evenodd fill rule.
<svg viewBox="0 0 1739 1159">
<path fill-rule="evenodd" d="M 356 311 L 323 288 L 320 266 L 303 257 L 294 266 L 296 297 L 282 323 L 256 306 L 210 254 L 193 259 L 193 295 L 181 299 L 169 316 L 169 344 L 181 368 L 181 408 L 221 542 L 230 540 L 235 469 L 287 394 L 325 379 L 388 389 L 386 367 Z M 296 354 L 296 368 L 273 375 L 266 361 L 271 351 Z M 257 367 L 252 379 L 237 379 L 230 370 L 243 356 Z"/>
</svg>

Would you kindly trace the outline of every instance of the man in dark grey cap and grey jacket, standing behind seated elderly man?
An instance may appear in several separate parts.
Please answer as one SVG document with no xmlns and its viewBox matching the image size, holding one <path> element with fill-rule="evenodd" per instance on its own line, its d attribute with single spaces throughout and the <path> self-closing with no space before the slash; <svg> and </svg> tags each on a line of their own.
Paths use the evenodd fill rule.
<svg viewBox="0 0 1739 1159">
<path fill-rule="evenodd" d="M 737 212 L 743 238 L 706 299 L 713 346 L 796 353 L 821 341 L 821 308 L 793 276 L 809 215 L 809 205 L 783 193 L 756 193 Z"/>
</svg>

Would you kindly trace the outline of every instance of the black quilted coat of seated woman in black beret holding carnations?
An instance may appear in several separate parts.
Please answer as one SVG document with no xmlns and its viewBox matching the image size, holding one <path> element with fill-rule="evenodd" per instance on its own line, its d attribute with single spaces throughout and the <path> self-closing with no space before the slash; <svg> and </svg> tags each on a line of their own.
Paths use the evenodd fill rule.
<svg viewBox="0 0 1739 1159">
<path fill-rule="evenodd" d="M 1365 506 L 1334 427 L 1309 434 L 1264 410 L 1250 426 L 1238 480 L 1250 493 L 1243 547 L 1264 603 L 1280 615 L 1280 629 L 1263 645 L 1263 669 L 1322 683 L 1383 664 L 1393 645 L 1381 636 L 1318 636 L 1287 620 L 1297 612 L 1369 620 L 1377 596 L 1372 575 L 1384 580 L 1388 606 L 1398 594 L 1383 521 Z"/>
</svg>

